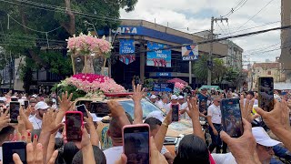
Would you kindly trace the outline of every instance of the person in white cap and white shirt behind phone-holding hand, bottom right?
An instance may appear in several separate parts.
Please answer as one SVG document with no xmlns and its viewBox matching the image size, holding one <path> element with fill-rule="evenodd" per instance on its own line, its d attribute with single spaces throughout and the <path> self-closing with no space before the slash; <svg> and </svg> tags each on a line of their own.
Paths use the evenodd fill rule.
<svg viewBox="0 0 291 164">
<path fill-rule="evenodd" d="M 270 138 L 266 130 L 262 127 L 254 127 L 252 128 L 253 136 L 256 139 L 256 153 L 257 157 L 261 163 L 270 163 L 272 157 L 274 156 L 273 147 L 281 142 Z M 213 159 L 215 159 L 216 164 L 224 164 L 224 163 L 234 163 L 236 164 L 236 159 L 232 155 L 232 153 L 226 154 L 211 154 Z"/>
</svg>

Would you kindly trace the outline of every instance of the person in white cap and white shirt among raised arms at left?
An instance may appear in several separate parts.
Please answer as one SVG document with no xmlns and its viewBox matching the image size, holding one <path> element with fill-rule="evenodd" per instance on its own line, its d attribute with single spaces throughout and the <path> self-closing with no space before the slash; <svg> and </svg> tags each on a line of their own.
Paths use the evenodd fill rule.
<svg viewBox="0 0 291 164">
<path fill-rule="evenodd" d="M 47 112 L 49 106 L 44 101 L 40 101 L 35 105 L 36 115 L 29 118 L 29 121 L 33 124 L 34 129 L 41 129 L 43 123 L 43 116 Z"/>
</svg>

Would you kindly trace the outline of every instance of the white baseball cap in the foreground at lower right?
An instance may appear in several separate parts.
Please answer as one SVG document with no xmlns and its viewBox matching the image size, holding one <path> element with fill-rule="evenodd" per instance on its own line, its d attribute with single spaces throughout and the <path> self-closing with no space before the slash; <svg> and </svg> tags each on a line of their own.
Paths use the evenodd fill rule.
<svg viewBox="0 0 291 164">
<path fill-rule="evenodd" d="M 267 135 L 265 129 L 262 127 L 254 127 L 252 128 L 252 132 L 256 138 L 257 144 L 263 145 L 265 147 L 274 147 L 281 143 L 275 139 L 270 138 L 269 135 Z"/>
</svg>

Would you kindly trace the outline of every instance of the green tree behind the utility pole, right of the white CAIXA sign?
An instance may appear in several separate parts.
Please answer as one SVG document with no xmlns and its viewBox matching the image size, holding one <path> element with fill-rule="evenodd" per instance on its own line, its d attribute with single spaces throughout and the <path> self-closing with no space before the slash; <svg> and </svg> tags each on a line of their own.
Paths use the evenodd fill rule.
<svg viewBox="0 0 291 164">
<path fill-rule="evenodd" d="M 208 75 L 207 60 L 208 56 L 202 54 L 193 66 L 194 74 L 204 84 L 206 84 Z M 211 68 L 212 82 L 221 82 L 225 73 L 226 67 L 224 66 L 224 61 L 220 58 L 214 58 L 213 67 Z"/>
</svg>

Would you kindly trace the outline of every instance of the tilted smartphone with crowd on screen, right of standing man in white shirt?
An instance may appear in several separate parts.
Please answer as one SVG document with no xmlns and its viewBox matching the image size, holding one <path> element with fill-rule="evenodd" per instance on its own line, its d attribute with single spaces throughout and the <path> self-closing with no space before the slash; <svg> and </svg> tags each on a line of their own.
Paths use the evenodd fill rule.
<svg viewBox="0 0 291 164">
<path fill-rule="evenodd" d="M 222 99 L 220 102 L 222 125 L 231 138 L 239 138 L 244 133 L 243 119 L 239 99 Z"/>
</svg>

